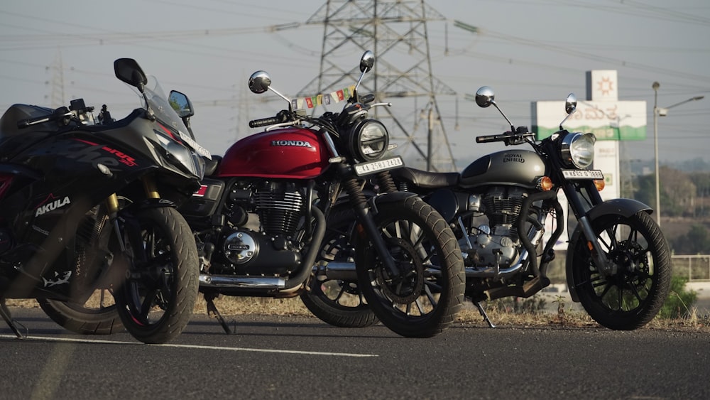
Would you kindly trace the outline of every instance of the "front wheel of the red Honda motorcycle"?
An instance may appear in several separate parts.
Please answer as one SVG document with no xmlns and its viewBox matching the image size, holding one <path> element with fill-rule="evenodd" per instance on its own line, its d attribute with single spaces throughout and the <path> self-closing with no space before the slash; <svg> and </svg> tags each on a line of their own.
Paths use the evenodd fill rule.
<svg viewBox="0 0 710 400">
<path fill-rule="evenodd" d="M 442 333 L 464 303 L 464 260 L 452 230 L 418 197 L 384 202 L 374 219 L 398 274 L 389 276 L 371 240 L 359 229 L 355 261 L 368 305 L 398 335 Z"/>
</svg>

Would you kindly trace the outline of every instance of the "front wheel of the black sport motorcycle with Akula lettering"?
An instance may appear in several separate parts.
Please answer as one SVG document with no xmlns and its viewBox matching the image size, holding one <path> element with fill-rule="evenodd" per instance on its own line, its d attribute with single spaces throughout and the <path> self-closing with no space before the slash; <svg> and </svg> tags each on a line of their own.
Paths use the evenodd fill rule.
<svg viewBox="0 0 710 400">
<path fill-rule="evenodd" d="M 128 278 L 114 292 L 121 321 L 141 342 L 169 342 L 185 329 L 195 306 L 195 238 L 171 207 L 141 210 L 121 229 L 128 269 Z"/>
</svg>

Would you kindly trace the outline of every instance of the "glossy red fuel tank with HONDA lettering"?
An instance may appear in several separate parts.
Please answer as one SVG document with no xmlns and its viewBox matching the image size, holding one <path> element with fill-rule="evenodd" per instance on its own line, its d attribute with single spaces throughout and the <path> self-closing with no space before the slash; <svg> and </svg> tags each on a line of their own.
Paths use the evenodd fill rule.
<svg viewBox="0 0 710 400">
<path fill-rule="evenodd" d="M 247 136 L 224 153 L 217 176 L 315 178 L 327 168 L 329 151 L 310 129 L 287 128 Z"/>
</svg>

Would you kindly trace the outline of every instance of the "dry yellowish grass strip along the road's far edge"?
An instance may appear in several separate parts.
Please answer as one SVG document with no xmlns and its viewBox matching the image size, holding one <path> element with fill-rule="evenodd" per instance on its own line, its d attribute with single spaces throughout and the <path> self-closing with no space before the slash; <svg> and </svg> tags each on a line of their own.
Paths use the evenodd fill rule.
<svg viewBox="0 0 710 400">
<path fill-rule="evenodd" d="M 315 318 L 300 301 L 300 298 L 261 298 L 261 297 L 226 297 L 214 301 L 217 309 L 225 317 L 228 315 L 281 315 Z M 9 307 L 38 307 L 34 300 L 8 300 Z M 530 328 L 594 328 L 603 329 L 589 315 L 581 311 L 565 310 L 564 303 L 559 304 L 557 313 L 550 312 L 511 312 L 509 308 L 499 307 L 496 303 L 484 305 L 488 317 L 496 326 Z M 207 314 L 207 303 L 200 296 L 195 304 L 194 313 Z M 471 303 L 466 303 L 464 310 L 457 316 L 457 323 L 471 326 L 487 326 L 481 314 Z M 710 316 L 699 315 L 692 308 L 689 316 L 677 319 L 654 318 L 643 329 L 684 330 L 710 333 Z"/>
</svg>

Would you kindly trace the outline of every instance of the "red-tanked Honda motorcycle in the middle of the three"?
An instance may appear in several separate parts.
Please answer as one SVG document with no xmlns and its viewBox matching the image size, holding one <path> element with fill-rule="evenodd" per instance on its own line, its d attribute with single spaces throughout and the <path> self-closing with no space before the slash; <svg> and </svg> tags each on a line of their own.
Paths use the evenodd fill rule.
<svg viewBox="0 0 710 400">
<path fill-rule="evenodd" d="M 370 104 L 373 96 L 357 93 L 373 63 L 373 53 L 364 53 L 342 112 L 320 117 L 295 111 L 266 72 L 251 75 L 252 92 L 271 90 L 289 109 L 251 121 L 266 129 L 215 157 L 202 188 L 180 207 L 195 232 L 200 291 L 227 333 L 217 296 L 293 297 L 329 274 L 320 249 L 341 194 L 356 222 L 353 271 L 379 320 L 406 337 L 430 337 L 453 323 L 464 276 L 452 230 L 414 193 L 366 198 L 362 191 L 373 176 L 392 185 L 388 171 L 403 165 L 399 156 L 387 157 L 385 126 L 368 117 L 368 109 L 386 104 Z M 189 102 L 174 94 L 173 104 L 189 119 Z"/>
</svg>

